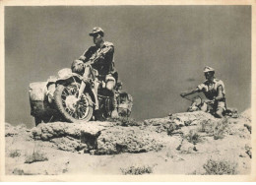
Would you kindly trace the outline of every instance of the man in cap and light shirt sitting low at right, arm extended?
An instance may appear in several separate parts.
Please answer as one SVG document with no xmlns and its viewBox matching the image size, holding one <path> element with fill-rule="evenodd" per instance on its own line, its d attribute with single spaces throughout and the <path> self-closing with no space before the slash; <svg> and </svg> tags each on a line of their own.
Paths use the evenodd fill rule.
<svg viewBox="0 0 256 185">
<path fill-rule="evenodd" d="M 213 100 L 213 110 L 215 116 L 224 117 L 224 111 L 226 109 L 225 97 L 224 97 L 224 82 L 215 78 L 215 70 L 209 66 L 204 69 L 206 81 L 199 85 L 195 90 L 188 92 L 181 92 L 180 95 L 185 97 L 186 95 L 193 94 L 195 92 L 204 92 L 205 96 Z"/>
</svg>

